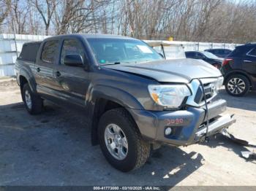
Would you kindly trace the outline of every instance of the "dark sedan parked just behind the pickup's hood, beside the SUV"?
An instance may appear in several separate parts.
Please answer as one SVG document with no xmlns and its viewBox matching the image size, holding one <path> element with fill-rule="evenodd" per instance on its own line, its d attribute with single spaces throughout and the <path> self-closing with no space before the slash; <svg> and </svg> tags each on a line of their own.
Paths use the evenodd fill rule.
<svg viewBox="0 0 256 191">
<path fill-rule="evenodd" d="M 222 67 L 222 58 L 217 57 L 216 55 L 211 54 L 206 51 L 186 51 L 186 58 L 200 59 L 210 63 L 212 66 L 220 69 Z"/>
</svg>

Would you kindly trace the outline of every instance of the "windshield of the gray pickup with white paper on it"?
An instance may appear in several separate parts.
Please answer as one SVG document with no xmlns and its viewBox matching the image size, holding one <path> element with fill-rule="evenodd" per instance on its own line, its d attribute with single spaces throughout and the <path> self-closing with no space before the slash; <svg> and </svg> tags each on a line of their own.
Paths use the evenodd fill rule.
<svg viewBox="0 0 256 191">
<path fill-rule="evenodd" d="M 147 44 L 136 39 L 87 39 L 99 64 L 143 63 L 163 58 Z"/>
</svg>

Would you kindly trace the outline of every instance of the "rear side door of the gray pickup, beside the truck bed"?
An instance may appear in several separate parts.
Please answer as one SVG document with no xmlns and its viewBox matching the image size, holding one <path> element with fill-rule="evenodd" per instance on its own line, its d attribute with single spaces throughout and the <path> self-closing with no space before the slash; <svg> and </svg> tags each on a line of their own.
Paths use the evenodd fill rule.
<svg viewBox="0 0 256 191">
<path fill-rule="evenodd" d="M 52 97 L 54 89 L 53 71 L 59 55 L 59 40 L 49 40 L 42 44 L 42 50 L 37 55 L 34 67 L 34 77 L 37 83 L 37 92 L 43 97 Z"/>
</svg>

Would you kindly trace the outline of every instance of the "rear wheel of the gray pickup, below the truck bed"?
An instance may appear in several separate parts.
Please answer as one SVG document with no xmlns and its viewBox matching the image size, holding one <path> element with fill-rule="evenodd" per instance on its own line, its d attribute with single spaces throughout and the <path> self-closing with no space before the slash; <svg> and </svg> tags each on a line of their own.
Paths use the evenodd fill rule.
<svg viewBox="0 0 256 191">
<path fill-rule="evenodd" d="M 28 83 L 23 85 L 21 92 L 23 102 L 29 114 L 39 114 L 40 112 L 42 112 L 42 98 L 40 98 L 39 95 L 32 93 Z"/>
</svg>

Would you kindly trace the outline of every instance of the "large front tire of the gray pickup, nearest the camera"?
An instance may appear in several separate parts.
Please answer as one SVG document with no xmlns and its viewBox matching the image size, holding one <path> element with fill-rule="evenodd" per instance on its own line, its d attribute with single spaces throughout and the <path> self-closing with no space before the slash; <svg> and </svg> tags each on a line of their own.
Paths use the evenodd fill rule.
<svg viewBox="0 0 256 191">
<path fill-rule="evenodd" d="M 116 155 L 113 155 L 113 152 L 111 154 L 111 149 L 107 146 L 110 142 L 116 145 L 115 141 L 107 139 L 108 136 L 105 135 L 108 130 L 111 130 L 111 127 L 113 129 L 114 127 L 120 128 L 121 130 L 117 130 L 119 132 L 118 135 L 121 136 L 122 140 L 124 138 L 127 140 L 127 145 L 124 144 L 127 146 L 127 149 L 122 146 L 118 152 L 116 149 L 113 149 Z M 111 136 L 113 136 L 113 133 L 115 132 L 112 130 L 110 132 Z M 106 134 L 108 135 L 108 133 Z M 136 168 L 140 168 L 148 160 L 151 148 L 150 144 L 142 139 L 134 120 L 123 108 L 111 109 L 102 115 L 99 120 L 98 137 L 103 155 L 108 160 L 108 163 L 119 171 L 127 172 L 135 170 Z M 122 153 L 121 158 L 118 153 Z"/>
</svg>

